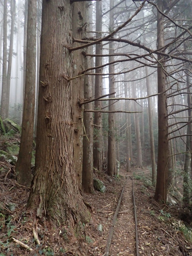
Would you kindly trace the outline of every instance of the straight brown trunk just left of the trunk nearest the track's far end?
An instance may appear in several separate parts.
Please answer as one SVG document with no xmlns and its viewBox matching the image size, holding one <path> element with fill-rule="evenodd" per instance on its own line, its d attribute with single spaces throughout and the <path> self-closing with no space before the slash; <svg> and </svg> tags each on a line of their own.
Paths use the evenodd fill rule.
<svg viewBox="0 0 192 256">
<path fill-rule="evenodd" d="M 102 31 L 102 2 L 96 2 L 96 31 Z M 101 34 L 96 33 L 96 38 Z M 95 46 L 95 54 L 102 54 L 102 45 Z M 102 65 L 102 57 L 95 57 L 95 66 Z M 95 73 L 102 73 L 102 68 L 95 69 Z M 102 76 L 95 76 L 95 98 L 102 96 Z M 94 109 L 102 108 L 101 101 L 95 101 Z M 102 174 L 102 113 L 94 113 L 94 146 L 93 146 L 93 166 Z"/>
</svg>

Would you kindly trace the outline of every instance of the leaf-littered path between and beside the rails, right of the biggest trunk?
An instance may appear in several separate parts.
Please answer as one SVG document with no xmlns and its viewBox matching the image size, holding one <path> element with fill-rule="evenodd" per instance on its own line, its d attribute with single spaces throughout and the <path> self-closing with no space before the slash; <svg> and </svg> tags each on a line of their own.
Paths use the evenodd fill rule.
<svg viewBox="0 0 192 256">
<path fill-rule="evenodd" d="M 109 230 L 124 183 L 123 199 L 114 225 L 109 256 L 136 255 L 132 180 L 129 176 L 134 178 L 139 255 L 192 255 L 192 245 L 186 242 L 182 232 L 178 231 L 180 221 L 174 217 L 170 218 L 166 211 L 162 212 L 153 200 L 154 188 L 148 179 L 150 171 L 134 169 L 133 172 L 127 173 L 121 169 L 121 179 L 115 180 L 114 177 L 111 183 L 107 183 L 107 179 L 104 180 L 105 193 L 85 195 L 93 209 L 92 223 L 85 231 L 94 241 L 81 244 L 85 246 L 81 255 L 107 255 L 105 250 Z M 99 224 L 102 225 L 102 232 L 97 231 Z"/>
</svg>

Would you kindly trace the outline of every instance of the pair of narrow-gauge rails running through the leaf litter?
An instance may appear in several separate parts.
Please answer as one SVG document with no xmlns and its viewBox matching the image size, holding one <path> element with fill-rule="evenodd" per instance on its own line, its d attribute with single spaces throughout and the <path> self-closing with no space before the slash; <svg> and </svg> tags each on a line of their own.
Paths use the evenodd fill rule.
<svg viewBox="0 0 192 256">
<path fill-rule="evenodd" d="M 130 193 L 132 191 L 132 204 L 133 204 L 133 211 L 134 211 L 134 220 L 135 220 L 135 252 L 136 252 L 136 256 L 139 256 L 139 244 L 138 244 L 138 231 L 137 231 L 137 213 L 136 213 L 136 204 L 135 204 L 135 195 L 134 195 L 134 182 L 133 182 L 133 179 L 131 176 L 129 176 L 129 179 L 131 180 L 131 183 L 132 183 L 132 189 L 130 190 Z M 130 183 L 129 183 L 130 184 Z M 120 209 L 120 205 L 121 205 L 121 202 L 122 202 L 122 198 L 123 198 L 123 194 L 124 194 L 124 191 L 125 191 L 125 188 L 128 188 L 128 178 L 126 176 L 126 181 L 123 185 L 123 188 L 121 190 L 121 194 L 120 194 L 120 197 L 119 197 L 119 201 L 118 201 L 118 204 L 117 204 L 117 207 L 116 207 L 116 210 L 114 212 L 114 216 L 113 216 L 113 220 L 112 220 L 112 224 L 111 224 L 111 227 L 110 227 L 110 230 L 109 230 L 109 236 L 108 236 L 108 239 L 107 239 L 107 243 L 106 243 L 106 248 L 105 248 L 105 253 L 103 254 L 103 256 L 109 256 L 111 253 L 111 242 L 112 242 L 112 237 L 113 237 L 113 234 L 114 233 L 114 229 L 116 227 L 116 225 L 118 225 L 118 220 L 117 220 L 117 215 L 118 215 L 118 212 L 119 212 L 119 209 Z M 130 189 L 130 188 L 129 188 Z M 129 192 L 127 192 L 129 193 Z M 130 205 L 131 202 L 129 202 L 129 205 Z M 129 209 L 130 212 L 132 211 L 132 209 Z M 125 227 L 125 229 L 129 229 L 130 227 Z M 133 230 L 131 232 L 134 232 Z M 133 233 L 132 233 L 133 235 Z M 130 234 L 127 233 L 127 242 L 130 241 Z M 130 243 L 132 244 L 132 243 Z M 131 254 L 133 255 L 133 254 Z"/>
</svg>

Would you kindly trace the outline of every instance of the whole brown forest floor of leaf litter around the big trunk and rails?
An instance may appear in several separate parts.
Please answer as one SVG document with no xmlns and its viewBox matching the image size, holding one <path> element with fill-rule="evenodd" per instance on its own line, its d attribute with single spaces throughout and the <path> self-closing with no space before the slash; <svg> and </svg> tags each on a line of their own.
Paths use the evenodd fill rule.
<svg viewBox="0 0 192 256">
<path fill-rule="evenodd" d="M 2 166 L 5 163 L 0 162 Z M 13 168 L 13 167 L 12 167 Z M 118 204 L 123 185 L 125 189 L 119 213 L 114 225 L 114 232 L 109 255 L 136 255 L 135 219 L 132 196 L 134 180 L 135 202 L 137 211 L 137 229 L 139 255 L 192 255 L 191 231 L 176 215 L 178 206 L 162 210 L 153 200 L 154 187 L 149 180 L 147 169 L 133 169 L 132 173 L 120 170 L 120 177 L 111 180 L 103 177 L 106 192 L 83 194 L 85 201 L 92 207 L 92 219 L 84 226 L 81 239 L 60 234 L 60 230 L 51 230 L 26 215 L 25 206 L 29 189 L 17 184 L 11 177 L 11 169 L 0 172 L 0 256 L 10 255 L 97 255 L 104 256 L 109 230 Z M 102 231 L 98 231 L 98 225 Z M 32 232 L 37 230 L 40 246 L 37 246 Z M 32 251 L 24 249 L 13 241 L 18 239 Z M 188 238 L 188 241 L 187 241 Z"/>
</svg>

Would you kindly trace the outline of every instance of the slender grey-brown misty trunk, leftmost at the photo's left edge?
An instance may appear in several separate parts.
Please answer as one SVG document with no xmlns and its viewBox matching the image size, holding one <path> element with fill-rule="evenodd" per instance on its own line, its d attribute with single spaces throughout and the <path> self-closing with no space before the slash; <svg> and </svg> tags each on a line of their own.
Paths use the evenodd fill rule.
<svg viewBox="0 0 192 256">
<path fill-rule="evenodd" d="M 4 0 L 3 12 L 3 71 L 1 93 L 1 117 L 6 118 L 6 95 L 7 95 L 7 0 Z"/>
</svg>

